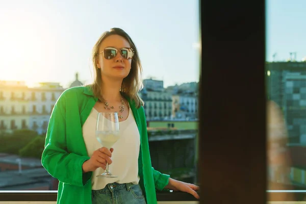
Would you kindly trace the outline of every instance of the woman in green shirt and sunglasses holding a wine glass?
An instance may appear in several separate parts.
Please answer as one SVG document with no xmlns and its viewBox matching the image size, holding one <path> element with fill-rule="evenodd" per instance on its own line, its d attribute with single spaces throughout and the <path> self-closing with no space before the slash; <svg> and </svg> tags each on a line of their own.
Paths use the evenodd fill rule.
<svg viewBox="0 0 306 204">
<path fill-rule="evenodd" d="M 65 90 L 48 125 L 42 165 L 59 180 L 57 203 L 151 204 L 157 203 L 156 189 L 185 191 L 199 198 L 198 186 L 151 167 L 138 95 L 142 68 L 131 37 L 118 28 L 105 32 L 93 47 L 92 60 L 94 83 Z M 118 112 L 121 136 L 111 149 L 95 139 L 98 112 Z M 96 177 L 107 163 L 118 177 Z"/>
</svg>

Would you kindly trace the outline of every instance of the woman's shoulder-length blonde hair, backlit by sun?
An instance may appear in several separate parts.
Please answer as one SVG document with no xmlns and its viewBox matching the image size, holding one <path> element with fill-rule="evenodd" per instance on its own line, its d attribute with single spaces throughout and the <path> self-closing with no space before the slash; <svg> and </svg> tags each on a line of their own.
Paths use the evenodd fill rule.
<svg viewBox="0 0 306 204">
<path fill-rule="evenodd" d="M 135 101 L 137 108 L 144 105 L 143 100 L 139 96 L 139 91 L 143 88 L 142 83 L 142 66 L 140 63 L 139 55 L 137 48 L 131 39 L 131 37 L 125 33 L 122 29 L 112 28 L 110 31 L 104 32 L 95 43 L 92 48 L 92 63 L 94 70 L 94 82 L 89 86 L 92 88 L 93 94 L 99 100 L 104 101 L 103 96 L 101 95 L 101 69 L 97 67 L 97 56 L 99 53 L 99 46 L 103 40 L 105 40 L 110 35 L 119 35 L 125 38 L 131 45 L 134 50 L 134 56 L 132 58 L 131 71 L 127 77 L 122 81 L 120 92 L 123 95 L 129 97 L 130 100 Z"/>
</svg>

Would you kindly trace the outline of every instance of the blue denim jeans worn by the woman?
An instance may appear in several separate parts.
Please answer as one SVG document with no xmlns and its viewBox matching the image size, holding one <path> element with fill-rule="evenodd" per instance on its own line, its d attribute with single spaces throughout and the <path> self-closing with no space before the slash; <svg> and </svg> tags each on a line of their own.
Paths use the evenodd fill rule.
<svg viewBox="0 0 306 204">
<path fill-rule="evenodd" d="M 108 184 L 104 189 L 92 190 L 92 204 L 146 204 L 139 185 Z"/>
</svg>

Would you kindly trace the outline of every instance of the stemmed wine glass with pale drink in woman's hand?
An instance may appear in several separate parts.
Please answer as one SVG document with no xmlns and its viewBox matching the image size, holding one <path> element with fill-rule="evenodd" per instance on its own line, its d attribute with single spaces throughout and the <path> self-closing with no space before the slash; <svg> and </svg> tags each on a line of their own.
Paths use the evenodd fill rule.
<svg viewBox="0 0 306 204">
<path fill-rule="evenodd" d="M 96 138 L 102 146 L 110 149 L 119 139 L 118 113 L 98 113 L 96 125 Z M 97 177 L 118 177 L 109 171 L 109 164 L 106 164 L 105 172 Z"/>
</svg>

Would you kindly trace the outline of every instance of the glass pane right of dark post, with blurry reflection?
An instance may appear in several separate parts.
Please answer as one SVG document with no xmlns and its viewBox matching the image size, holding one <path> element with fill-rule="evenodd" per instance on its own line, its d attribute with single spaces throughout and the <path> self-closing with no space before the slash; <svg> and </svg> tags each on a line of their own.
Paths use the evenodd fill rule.
<svg viewBox="0 0 306 204">
<path fill-rule="evenodd" d="M 268 190 L 306 186 L 306 52 L 300 43 L 304 31 L 297 27 L 306 17 L 306 2 L 301 3 L 267 1 Z"/>
</svg>

